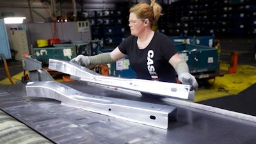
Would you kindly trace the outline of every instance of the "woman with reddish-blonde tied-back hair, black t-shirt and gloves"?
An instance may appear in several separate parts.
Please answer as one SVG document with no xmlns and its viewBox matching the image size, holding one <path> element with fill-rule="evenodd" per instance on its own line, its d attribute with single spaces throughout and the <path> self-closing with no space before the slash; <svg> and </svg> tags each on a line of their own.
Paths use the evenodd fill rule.
<svg viewBox="0 0 256 144">
<path fill-rule="evenodd" d="M 189 74 L 187 63 L 181 60 L 170 38 L 151 29 L 162 15 L 161 11 L 162 7 L 155 0 L 152 0 L 150 5 L 141 2 L 132 6 L 129 10 L 131 36 L 112 52 L 96 56 L 79 55 L 71 61 L 88 67 L 112 63 L 129 56 L 131 68 L 136 72 L 138 79 L 177 83 L 177 72 L 181 83 L 189 84 L 191 90 L 196 90 L 198 83 L 195 77 Z"/>
</svg>

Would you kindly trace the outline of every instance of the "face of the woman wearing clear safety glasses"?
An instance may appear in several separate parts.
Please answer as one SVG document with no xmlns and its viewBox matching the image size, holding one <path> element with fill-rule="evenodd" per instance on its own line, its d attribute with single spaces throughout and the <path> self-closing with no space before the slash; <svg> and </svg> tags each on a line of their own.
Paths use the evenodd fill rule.
<svg viewBox="0 0 256 144">
<path fill-rule="evenodd" d="M 144 28 L 144 22 L 141 19 L 138 19 L 137 15 L 135 13 L 130 13 L 129 15 L 129 27 L 131 30 L 131 35 L 139 36 L 141 31 L 143 31 Z"/>
</svg>

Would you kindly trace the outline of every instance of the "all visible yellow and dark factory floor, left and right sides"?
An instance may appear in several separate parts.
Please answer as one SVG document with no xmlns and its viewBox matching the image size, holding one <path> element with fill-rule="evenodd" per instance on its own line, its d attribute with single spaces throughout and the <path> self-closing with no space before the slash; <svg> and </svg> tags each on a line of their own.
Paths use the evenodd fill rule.
<svg viewBox="0 0 256 144">
<path fill-rule="evenodd" d="M 237 70 L 200 83 L 195 92 L 195 102 L 256 116 L 256 61 L 254 38 L 220 38 L 220 68 L 228 70 L 230 55 L 238 52 Z M 8 60 L 12 81 L 19 84 L 23 76 L 21 61 Z M 61 77 L 54 77 L 60 81 Z M 3 61 L 0 61 L 0 85 L 11 84 L 6 76 Z"/>
</svg>

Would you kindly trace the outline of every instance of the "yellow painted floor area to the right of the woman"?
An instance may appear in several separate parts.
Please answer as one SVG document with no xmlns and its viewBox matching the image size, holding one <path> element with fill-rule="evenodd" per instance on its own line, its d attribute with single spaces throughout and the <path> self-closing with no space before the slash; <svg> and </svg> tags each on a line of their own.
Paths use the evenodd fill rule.
<svg viewBox="0 0 256 144">
<path fill-rule="evenodd" d="M 228 68 L 228 64 L 221 63 L 220 68 Z M 256 67 L 251 65 L 237 65 L 236 73 L 216 77 L 215 82 L 209 88 L 198 88 L 195 92 L 195 102 L 236 95 L 255 83 Z"/>
</svg>

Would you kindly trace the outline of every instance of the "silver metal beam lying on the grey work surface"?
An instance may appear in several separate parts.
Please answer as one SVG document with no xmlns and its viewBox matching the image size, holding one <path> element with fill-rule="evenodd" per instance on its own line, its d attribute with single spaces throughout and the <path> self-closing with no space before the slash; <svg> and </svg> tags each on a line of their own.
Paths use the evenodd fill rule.
<svg viewBox="0 0 256 144">
<path fill-rule="evenodd" d="M 90 95 L 55 81 L 30 82 L 26 85 L 26 92 L 29 97 L 56 99 L 74 108 L 162 129 L 168 128 L 169 118 L 177 120 L 177 108 L 174 106 Z"/>
</svg>

